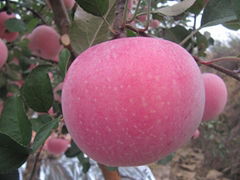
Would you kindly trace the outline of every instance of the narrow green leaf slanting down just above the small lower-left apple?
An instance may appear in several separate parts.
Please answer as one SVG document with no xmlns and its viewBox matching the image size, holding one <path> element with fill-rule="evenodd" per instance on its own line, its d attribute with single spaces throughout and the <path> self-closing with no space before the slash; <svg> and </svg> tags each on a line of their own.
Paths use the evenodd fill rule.
<svg viewBox="0 0 240 180">
<path fill-rule="evenodd" d="M 36 150 L 44 144 L 52 130 L 58 126 L 58 122 L 58 119 L 52 120 L 39 129 L 32 145 L 33 152 L 36 152 Z"/>
</svg>

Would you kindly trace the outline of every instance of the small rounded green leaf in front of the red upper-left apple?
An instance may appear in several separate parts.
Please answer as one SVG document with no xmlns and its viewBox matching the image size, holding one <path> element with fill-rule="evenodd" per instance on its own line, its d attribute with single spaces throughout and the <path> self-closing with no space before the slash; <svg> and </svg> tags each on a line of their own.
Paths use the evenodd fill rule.
<svg viewBox="0 0 240 180">
<path fill-rule="evenodd" d="M 16 18 L 10 18 L 5 21 L 5 26 L 10 32 L 24 32 L 26 30 L 25 23 L 22 20 Z"/>
</svg>

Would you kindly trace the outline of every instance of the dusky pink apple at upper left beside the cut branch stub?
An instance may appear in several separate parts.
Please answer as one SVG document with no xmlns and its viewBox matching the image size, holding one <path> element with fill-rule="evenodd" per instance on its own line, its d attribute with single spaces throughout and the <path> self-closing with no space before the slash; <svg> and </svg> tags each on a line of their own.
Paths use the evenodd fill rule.
<svg viewBox="0 0 240 180">
<path fill-rule="evenodd" d="M 60 35 L 50 26 L 36 27 L 28 38 L 32 53 L 44 59 L 55 60 L 62 49 Z"/>
</svg>

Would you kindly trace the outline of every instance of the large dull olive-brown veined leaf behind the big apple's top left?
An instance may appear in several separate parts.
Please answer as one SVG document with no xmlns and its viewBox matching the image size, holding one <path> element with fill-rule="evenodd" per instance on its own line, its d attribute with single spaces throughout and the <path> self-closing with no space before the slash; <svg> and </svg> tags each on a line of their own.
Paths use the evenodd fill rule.
<svg viewBox="0 0 240 180">
<path fill-rule="evenodd" d="M 115 2 L 116 0 L 110 0 L 109 9 L 104 16 L 110 24 L 115 14 Z M 103 18 L 88 14 L 80 8 L 75 16 L 76 20 L 70 28 L 70 38 L 73 49 L 77 53 L 109 39 L 109 27 Z"/>
</svg>

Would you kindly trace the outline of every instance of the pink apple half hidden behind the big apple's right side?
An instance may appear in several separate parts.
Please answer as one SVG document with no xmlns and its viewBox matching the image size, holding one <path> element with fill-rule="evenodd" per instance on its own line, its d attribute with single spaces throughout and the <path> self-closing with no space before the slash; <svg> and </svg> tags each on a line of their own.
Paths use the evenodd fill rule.
<svg viewBox="0 0 240 180">
<path fill-rule="evenodd" d="M 227 88 L 219 76 L 213 73 L 203 73 L 206 94 L 206 104 L 203 121 L 213 120 L 222 111 L 227 103 Z"/>
</svg>

